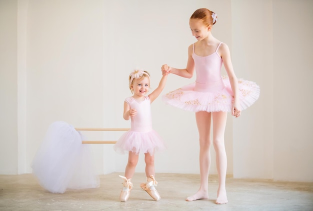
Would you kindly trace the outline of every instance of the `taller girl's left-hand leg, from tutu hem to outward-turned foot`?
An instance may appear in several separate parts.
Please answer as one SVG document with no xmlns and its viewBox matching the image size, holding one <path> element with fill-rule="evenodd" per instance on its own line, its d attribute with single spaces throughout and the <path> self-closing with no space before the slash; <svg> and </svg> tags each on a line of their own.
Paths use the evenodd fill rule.
<svg viewBox="0 0 313 211">
<path fill-rule="evenodd" d="M 199 111 L 195 113 L 196 124 L 199 132 L 199 164 L 200 164 L 200 188 L 198 191 L 186 198 L 187 201 L 208 198 L 208 170 L 210 166 L 210 125 L 211 113 Z"/>
</svg>

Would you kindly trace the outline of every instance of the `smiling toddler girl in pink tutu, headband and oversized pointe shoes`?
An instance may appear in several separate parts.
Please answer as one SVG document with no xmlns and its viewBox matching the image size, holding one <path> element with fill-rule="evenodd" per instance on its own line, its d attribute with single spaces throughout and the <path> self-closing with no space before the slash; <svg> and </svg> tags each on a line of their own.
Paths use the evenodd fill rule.
<svg viewBox="0 0 313 211">
<path fill-rule="evenodd" d="M 130 130 L 125 132 L 114 144 L 117 152 L 128 152 L 128 162 L 123 178 L 123 188 L 120 192 L 120 201 L 127 201 L 133 185 L 131 178 L 138 162 L 139 152 L 144 153 L 146 182 L 140 187 L 154 200 L 159 200 L 154 178 L 154 152 L 164 149 L 161 137 L 152 129 L 150 104 L 161 93 L 165 86 L 167 75 L 163 75 L 158 86 L 146 95 L 150 87 L 150 75 L 144 70 L 134 70 L 129 75 L 129 88 L 132 96 L 124 100 L 123 118 L 131 120 Z"/>
</svg>

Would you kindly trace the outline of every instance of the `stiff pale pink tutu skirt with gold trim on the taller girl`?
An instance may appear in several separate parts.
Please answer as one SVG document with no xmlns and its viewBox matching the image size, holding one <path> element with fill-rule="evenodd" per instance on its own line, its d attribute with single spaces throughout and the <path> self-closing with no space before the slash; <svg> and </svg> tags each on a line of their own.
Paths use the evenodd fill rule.
<svg viewBox="0 0 313 211">
<path fill-rule="evenodd" d="M 209 91 L 195 91 L 195 83 L 191 83 L 162 96 L 162 100 L 172 106 L 187 111 L 231 111 L 233 94 L 227 76 L 222 77 L 223 87 L 214 85 L 208 87 Z M 238 79 L 239 99 L 241 109 L 252 105 L 259 97 L 259 86 L 244 79 Z"/>
</svg>

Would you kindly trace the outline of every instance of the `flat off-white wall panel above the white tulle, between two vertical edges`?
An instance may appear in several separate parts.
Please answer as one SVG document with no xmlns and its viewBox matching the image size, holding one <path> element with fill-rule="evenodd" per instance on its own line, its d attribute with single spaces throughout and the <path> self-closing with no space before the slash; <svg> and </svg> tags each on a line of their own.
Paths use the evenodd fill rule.
<svg viewBox="0 0 313 211">
<path fill-rule="evenodd" d="M 26 164 L 53 121 L 101 127 L 103 1 L 29 0 L 27 12 Z M 91 137 L 90 137 L 91 135 Z M 89 138 L 101 138 L 90 134 Z M 94 147 L 102 172 L 102 150 Z"/>
</svg>

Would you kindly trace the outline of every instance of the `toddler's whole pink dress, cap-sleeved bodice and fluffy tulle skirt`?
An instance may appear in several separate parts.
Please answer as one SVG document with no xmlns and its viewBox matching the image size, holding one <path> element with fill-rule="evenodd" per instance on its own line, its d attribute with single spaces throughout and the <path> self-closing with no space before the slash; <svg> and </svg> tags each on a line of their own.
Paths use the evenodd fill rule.
<svg viewBox="0 0 313 211">
<path fill-rule="evenodd" d="M 148 96 L 143 101 L 138 101 L 132 96 L 127 97 L 125 102 L 130 108 L 137 111 L 135 116 L 131 116 L 130 130 L 114 144 L 113 148 L 119 153 L 129 151 L 140 153 L 150 153 L 165 149 L 162 138 L 152 129 L 151 102 Z"/>
</svg>

